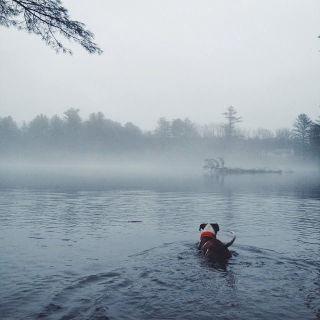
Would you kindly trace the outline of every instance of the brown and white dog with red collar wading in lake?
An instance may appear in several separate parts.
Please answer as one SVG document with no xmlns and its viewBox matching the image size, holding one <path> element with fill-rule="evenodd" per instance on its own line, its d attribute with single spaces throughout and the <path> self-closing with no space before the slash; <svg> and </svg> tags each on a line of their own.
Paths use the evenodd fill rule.
<svg viewBox="0 0 320 320">
<path fill-rule="evenodd" d="M 200 236 L 200 243 L 198 246 L 199 250 L 202 250 L 206 258 L 212 260 L 225 260 L 232 256 L 231 252 L 228 250 L 228 247 L 235 240 L 235 233 L 232 233 L 232 239 L 224 244 L 216 238 L 216 232 L 219 231 L 219 226 L 217 223 L 201 223 L 199 231 L 203 229 L 203 232 Z"/>
</svg>

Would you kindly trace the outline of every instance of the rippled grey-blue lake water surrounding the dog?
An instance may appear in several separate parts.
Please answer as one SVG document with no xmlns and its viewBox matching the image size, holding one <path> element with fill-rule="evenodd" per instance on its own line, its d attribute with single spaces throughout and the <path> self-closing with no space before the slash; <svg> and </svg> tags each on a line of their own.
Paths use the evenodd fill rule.
<svg viewBox="0 0 320 320">
<path fill-rule="evenodd" d="M 319 172 L 0 178 L 2 320 L 320 319 Z"/>
</svg>

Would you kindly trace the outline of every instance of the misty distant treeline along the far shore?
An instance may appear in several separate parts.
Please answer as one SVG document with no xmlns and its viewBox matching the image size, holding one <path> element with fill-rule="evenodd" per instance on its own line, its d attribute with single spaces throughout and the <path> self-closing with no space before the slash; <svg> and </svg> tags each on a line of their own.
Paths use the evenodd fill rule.
<svg viewBox="0 0 320 320">
<path fill-rule="evenodd" d="M 83 120 L 79 109 L 69 108 L 63 117 L 40 114 L 21 126 L 11 116 L 0 117 L 0 155 L 41 156 L 50 153 L 123 154 L 126 151 L 223 154 L 232 149 L 246 154 L 266 154 L 275 149 L 294 150 L 299 157 L 320 158 L 320 120 L 312 122 L 299 114 L 292 128 L 273 133 L 264 128 L 235 126 L 241 117 L 227 108 L 225 123 L 197 125 L 189 118 L 161 117 L 152 131 L 142 131 L 132 122 L 124 125 L 93 112 Z"/>
</svg>

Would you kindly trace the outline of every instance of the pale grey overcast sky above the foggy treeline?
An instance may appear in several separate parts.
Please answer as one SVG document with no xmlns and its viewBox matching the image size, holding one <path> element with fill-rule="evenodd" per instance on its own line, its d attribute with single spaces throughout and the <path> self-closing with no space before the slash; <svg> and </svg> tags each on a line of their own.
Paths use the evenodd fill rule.
<svg viewBox="0 0 320 320">
<path fill-rule="evenodd" d="M 292 127 L 320 115 L 319 0 L 64 0 L 103 49 L 89 55 L 0 27 L 0 116 L 18 124 L 79 108 L 153 129 L 164 116 Z"/>
</svg>

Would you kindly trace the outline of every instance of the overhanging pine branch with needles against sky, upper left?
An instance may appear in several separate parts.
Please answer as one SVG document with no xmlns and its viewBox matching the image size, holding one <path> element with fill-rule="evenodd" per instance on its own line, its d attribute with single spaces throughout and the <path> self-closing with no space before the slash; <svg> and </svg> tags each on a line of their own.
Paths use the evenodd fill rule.
<svg viewBox="0 0 320 320">
<path fill-rule="evenodd" d="M 0 0 L 0 25 L 37 34 L 56 52 L 72 54 L 57 38 L 60 34 L 89 53 L 102 53 L 92 41 L 93 33 L 85 29 L 84 23 L 71 20 L 60 0 Z"/>
</svg>

